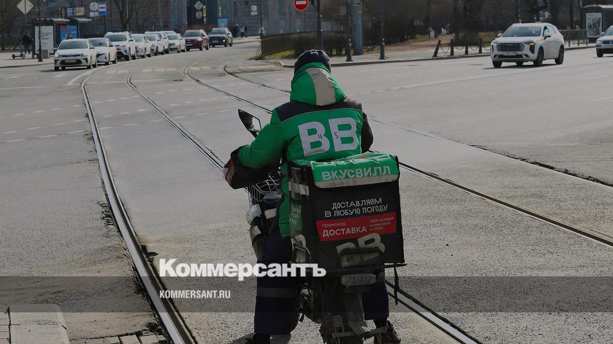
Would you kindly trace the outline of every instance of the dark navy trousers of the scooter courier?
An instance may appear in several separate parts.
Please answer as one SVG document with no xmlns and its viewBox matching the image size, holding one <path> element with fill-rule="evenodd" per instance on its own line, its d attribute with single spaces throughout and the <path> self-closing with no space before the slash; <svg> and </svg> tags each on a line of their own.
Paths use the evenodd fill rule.
<svg viewBox="0 0 613 344">
<path fill-rule="evenodd" d="M 289 238 L 283 239 L 278 226 L 271 231 L 268 242 L 262 250 L 258 263 L 287 263 L 292 258 L 292 244 Z M 254 327 L 256 333 L 288 334 L 295 321 L 296 297 L 299 293 L 300 277 L 257 277 L 256 314 Z M 366 320 L 386 319 L 389 304 L 385 282 L 370 286 L 362 294 Z"/>
</svg>

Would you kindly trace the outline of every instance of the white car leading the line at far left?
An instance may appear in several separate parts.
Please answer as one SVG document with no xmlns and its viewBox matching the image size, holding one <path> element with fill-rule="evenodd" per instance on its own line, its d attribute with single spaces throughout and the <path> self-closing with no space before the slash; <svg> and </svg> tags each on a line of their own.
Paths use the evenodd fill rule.
<svg viewBox="0 0 613 344">
<path fill-rule="evenodd" d="M 97 67 L 96 48 L 86 39 L 65 39 L 53 54 L 53 69 L 66 67 Z"/>
</svg>

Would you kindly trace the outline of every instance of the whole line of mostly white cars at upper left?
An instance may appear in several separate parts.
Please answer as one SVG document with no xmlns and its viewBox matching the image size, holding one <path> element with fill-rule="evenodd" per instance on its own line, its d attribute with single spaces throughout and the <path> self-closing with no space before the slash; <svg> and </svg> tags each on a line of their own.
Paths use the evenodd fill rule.
<svg viewBox="0 0 613 344">
<path fill-rule="evenodd" d="M 53 69 L 66 67 L 97 67 L 99 63 L 115 64 L 118 59 L 147 58 L 158 54 L 177 53 L 191 49 L 208 50 L 215 45 L 234 43 L 227 28 L 215 28 L 207 35 L 202 29 L 188 30 L 183 35 L 174 31 L 107 32 L 104 37 L 89 39 L 65 39 L 59 43 L 53 56 Z"/>
</svg>

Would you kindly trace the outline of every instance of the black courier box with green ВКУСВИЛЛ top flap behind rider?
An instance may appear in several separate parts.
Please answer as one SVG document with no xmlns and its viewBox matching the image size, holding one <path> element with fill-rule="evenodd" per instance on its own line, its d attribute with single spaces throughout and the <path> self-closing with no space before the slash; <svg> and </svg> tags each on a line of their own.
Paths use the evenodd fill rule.
<svg viewBox="0 0 613 344">
<path fill-rule="evenodd" d="M 292 261 L 328 273 L 404 263 L 399 177 L 383 153 L 289 163 Z"/>
</svg>

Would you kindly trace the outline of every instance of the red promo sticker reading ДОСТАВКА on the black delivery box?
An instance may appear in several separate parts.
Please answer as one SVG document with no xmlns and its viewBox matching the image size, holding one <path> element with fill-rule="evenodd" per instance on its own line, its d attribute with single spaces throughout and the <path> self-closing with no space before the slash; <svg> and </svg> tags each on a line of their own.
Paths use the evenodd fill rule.
<svg viewBox="0 0 613 344">
<path fill-rule="evenodd" d="M 321 241 L 355 239 L 370 233 L 396 233 L 396 213 L 323 220 L 316 223 Z"/>
</svg>

